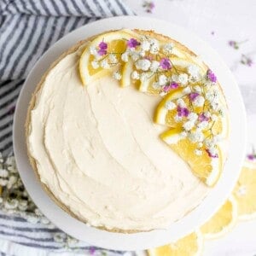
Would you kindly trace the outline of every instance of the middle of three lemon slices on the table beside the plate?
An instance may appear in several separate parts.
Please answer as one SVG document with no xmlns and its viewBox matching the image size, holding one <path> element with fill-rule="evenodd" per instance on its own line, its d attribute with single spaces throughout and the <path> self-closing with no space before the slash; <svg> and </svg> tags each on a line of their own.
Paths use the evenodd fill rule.
<svg viewBox="0 0 256 256">
<path fill-rule="evenodd" d="M 233 196 L 230 196 L 222 207 L 210 218 L 206 224 L 201 226 L 201 233 L 204 237 L 213 239 L 223 236 L 236 224 L 237 203 Z"/>
</svg>

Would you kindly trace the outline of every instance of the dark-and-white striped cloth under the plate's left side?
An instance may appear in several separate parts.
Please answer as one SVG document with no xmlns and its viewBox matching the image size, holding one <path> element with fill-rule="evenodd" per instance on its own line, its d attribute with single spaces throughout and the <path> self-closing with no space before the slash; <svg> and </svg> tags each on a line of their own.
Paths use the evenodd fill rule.
<svg viewBox="0 0 256 256">
<path fill-rule="evenodd" d="M 67 32 L 114 15 L 133 15 L 133 12 L 122 0 L 0 0 L 0 153 L 12 152 L 15 102 L 27 73 L 38 58 Z M 0 253 L 46 255 L 41 251 L 36 253 L 39 252 L 34 251 L 36 248 L 63 251 L 63 245 L 53 239 L 53 233 L 65 236 L 61 230 L 1 213 Z M 1 239 L 16 244 L 10 247 Z M 15 246 L 19 253 L 9 251 Z M 24 250 L 24 246 L 30 247 L 32 253 Z M 79 248 L 79 252 L 90 250 L 90 246 L 82 242 L 73 247 Z M 120 253 L 108 251 L 108 254 Z"/>
</svg>

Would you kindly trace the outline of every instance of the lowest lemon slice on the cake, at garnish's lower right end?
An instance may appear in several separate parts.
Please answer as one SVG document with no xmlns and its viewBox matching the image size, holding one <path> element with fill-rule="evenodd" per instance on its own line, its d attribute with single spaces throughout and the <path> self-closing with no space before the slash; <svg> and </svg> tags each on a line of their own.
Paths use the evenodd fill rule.
<svg viewBox="0 0 256 256">
<path fill-rule="evenodd" d="M 222 170 L 222 154 L 218 148 L 218 157 L 209 157 L 206 150 L 201 155 L 195 154 L 197 146 L 188 138 L 181 138 L 180 128 L 173 128 L 160 134 L 161 139 L 166 142 L 191 168 L 196 177 L 212 187 L 218 181 Z"/>
</svg>

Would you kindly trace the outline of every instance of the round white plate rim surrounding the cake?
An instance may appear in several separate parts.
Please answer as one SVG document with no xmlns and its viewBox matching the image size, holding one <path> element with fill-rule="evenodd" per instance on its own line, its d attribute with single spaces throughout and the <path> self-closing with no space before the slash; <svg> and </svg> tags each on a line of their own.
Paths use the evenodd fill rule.
<svg viewBox="0 0 256 256">
<path fill-rule="evenodd" d="M 224 166 L 224 172 L 217 185 L 207 195 L 199 207 L 187 216 L 172 224 L 168 230 L 154 230 L 137 234 L 118 234 L 108 231 L 97 230 L 70 217 L 66 212 L 57 207 L 49 196 L 44 192 L 38 182 L 26 155 L 26 138 L 24 124 L 28 102 L 41 76 L 49 67 L 50 63 L 69 49 L 79 40 L 88 38 L 100 32 L 121 29 L 140 28 L 153 29 L 155 32 L 166 34 L 177 41 L 185 44 L 195 51 L 197 55 L 212 68 L 223 86 L 224 94 L 230 108 L 230 152 Z M 230 195 L 239 176 L 242 160 L 244 159 L 246 143 L 246 115 L 241 94 L 229 68 L 226 67 L 216 51 L 209 47 L 193 33 L 182 27 L 175 26 L 163 20 L 155 20 L 146 17 L 122 16 L 106 20 L 99 20 L 69 33 L 54 44 L 33 67 L 20 92 L 17 102 L 14 122 L 14 149 L 15 158 L 20 177 L 44 215 L 57 227 L 82 241 L 109 249 L 139 250 L 149 247 L 157 247 L 170 241 L 189 234 L 212 216 Z"/>
</svg>

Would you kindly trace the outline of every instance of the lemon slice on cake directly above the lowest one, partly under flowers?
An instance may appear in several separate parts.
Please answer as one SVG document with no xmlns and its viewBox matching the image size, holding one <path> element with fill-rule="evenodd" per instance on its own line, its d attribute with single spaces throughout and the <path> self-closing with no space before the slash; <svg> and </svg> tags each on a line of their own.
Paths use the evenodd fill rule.
<svg viewBox="0 0 256 256">
<path fill-rule="evenodd" d="M 172 90 L 172 92 L 167 94 L 155 110 L 154 122 L 159 125 L 176 127 L 177 122 L 174 120 L 174 117 L 177 114 L 177 109 L 168 110 L 166 105 L 168 102 L 177 100 L 185 95 L 182 89 Z"/>
</svg>

